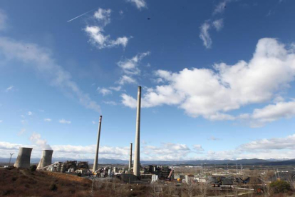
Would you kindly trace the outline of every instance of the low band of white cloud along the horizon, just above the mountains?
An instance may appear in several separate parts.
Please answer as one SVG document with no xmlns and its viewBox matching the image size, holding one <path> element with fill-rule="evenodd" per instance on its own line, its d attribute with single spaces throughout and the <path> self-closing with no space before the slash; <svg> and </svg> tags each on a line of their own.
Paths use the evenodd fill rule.
<svg viewBox="0 0 295 197">
<path fill-rule="evenodd" d="M 0 153 L 2 156 L 9 151 L 16 151 L 20 146 L 32 147 L 32 158 L 40 157 L 41 149 L 48 149 L 46 140 L 40 134 L 31 136 L 33 145 L 23 145 L 0 141 Z M 96 145 L 73 146 L 53 145 L 54 157 L 66 158 L 93 158 Z M 141 160 L 189 160 L 189 159 L 242 159 L 242 158 L 294 158 L 295 134 L 282 138 L 264 138 L 244 143 L 237 148 L 221 151 L 204 151 L 200 144 L 192 145 L 192 149 L 182 143 L 162 143 L 160 146 L 144 144 L 141 149 Z M 100 146 L 100 157 L 118 158 L 128 160 L 129 146 L 111 147 Z"/>
</svg>

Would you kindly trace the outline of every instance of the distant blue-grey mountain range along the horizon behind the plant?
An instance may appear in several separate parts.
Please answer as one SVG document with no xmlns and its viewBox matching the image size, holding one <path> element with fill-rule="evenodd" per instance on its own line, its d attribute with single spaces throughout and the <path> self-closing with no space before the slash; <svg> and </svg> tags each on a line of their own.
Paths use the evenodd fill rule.
<svg viewBox="0 0 295 197">
<path fill-rule="evenodd" d="M 14 163 L 16 158 L 11 158 L 11 163 Z M 53 158 L 53 162 L 56 161 L 88 161 L 89 163 L 93 163 L 93 159 L 74 159 L 74 158 Z M 31 158 L 31 163 L 38 163 L 40 158 Z M 0 158 L 0 163 L 8 163 L 9 158 Z M 110 159 L 110 158 L 100 158 L 100 164 L 128 164 L 127 160 L 120 159 Z M 239 160 L 186 160 L 186 161 L 140 161 L 143 165 L 190 165 L 190 166 L 201 166 L 202 164 L 206 165 L 262 165 L 262 166 L 282 166 L 282 165 L 295 165 L 295 159 L 291 160 L 276 160 L 276 159 L 239 159 Z"/>
</svg>

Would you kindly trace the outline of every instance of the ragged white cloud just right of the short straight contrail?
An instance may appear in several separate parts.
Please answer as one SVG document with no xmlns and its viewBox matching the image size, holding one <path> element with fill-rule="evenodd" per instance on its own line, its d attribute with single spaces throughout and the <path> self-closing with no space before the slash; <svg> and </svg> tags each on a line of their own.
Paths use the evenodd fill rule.
<svg viewBox="0 0 295 197">
<path fill-rule="evenodd" d="M 99 22 L 97 26 L 86 26 L 84 29 L 90 37 L 89 42 L 96 46 L 98 49 L 112 48 L 114 46 L 127 46 L 128 37 L 118 37 L 113 40 L 110 39 L 110 35 L 104 34 L 104 27 L 110 23 L 110 9 L 98 9 L 95 11 L 93 17 Z"/>
</svg>

